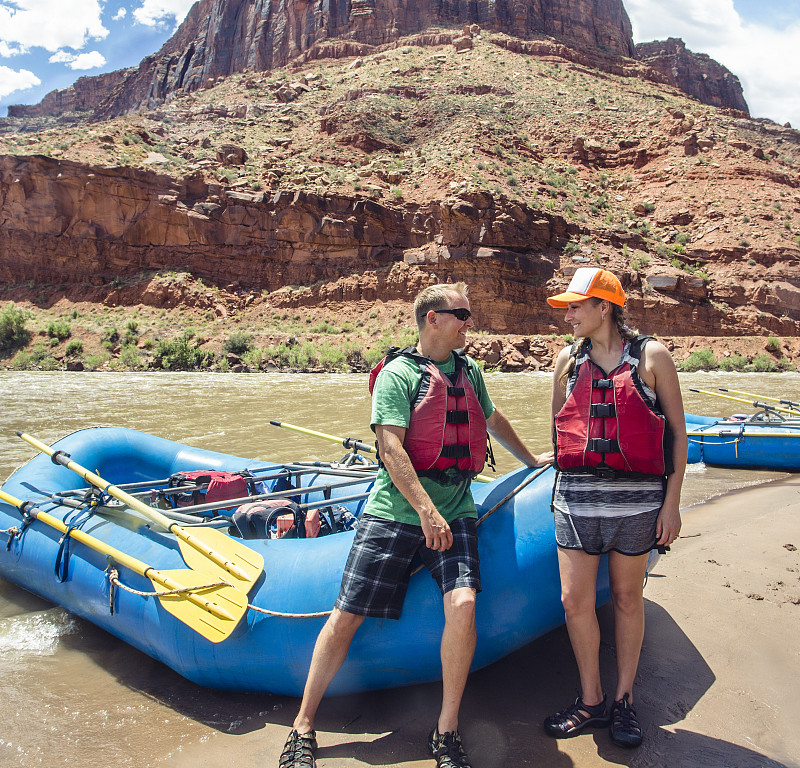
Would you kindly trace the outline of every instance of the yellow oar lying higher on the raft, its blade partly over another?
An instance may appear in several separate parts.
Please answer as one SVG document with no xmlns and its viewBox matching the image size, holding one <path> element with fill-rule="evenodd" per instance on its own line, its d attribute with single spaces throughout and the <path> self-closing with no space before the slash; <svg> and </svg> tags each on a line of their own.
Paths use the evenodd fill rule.
<svg viewBox="0 0 800 768">
<path fill-rule="evenodd" d="M 175 534 L 183 559 L 190 568 L 211 573 L 215 578 L 222 577 L 245 593 L 250 591 L 261 575 L 264 569 L 264 558 L 258 552 L 240 544 L 230 536 L 213 528 L 193 529 L 190 533 L 166 515 L 162 515 L 117 486 L 103 480 L 99 475 L 72 461 L 69 454 L 64 451 L 56 451 L 35 437 L 22 432 L 17 432 L 17 436 L 50 456 L 54 464 L 71 469 L 87 483 L 94 485 L 109 496 L 113 496 L 139 514 Z"/>
</svg>

